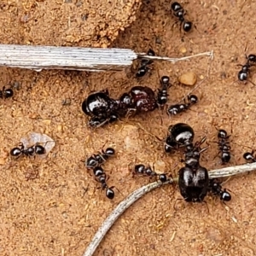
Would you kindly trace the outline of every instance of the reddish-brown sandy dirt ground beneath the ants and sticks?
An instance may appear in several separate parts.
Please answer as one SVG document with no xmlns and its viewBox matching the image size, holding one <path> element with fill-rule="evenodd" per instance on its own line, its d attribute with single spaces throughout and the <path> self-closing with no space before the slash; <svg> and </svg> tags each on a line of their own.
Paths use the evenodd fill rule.
<svg viewBox="0 0 256 256">
<path fill-rule="evenodd" d="M 183 35 L 178 24 L 172 26 L 175 19 L 170 13 L 170 1 L 145 0 L 137 10 L 137 20 L 119 32 L 113 43 L 114 35 L 108 38 L 102 33 L 97 37 L 96 28 L 91 28 L 95 31 L 93 38 L 86 38 L 84 26 L 76 22 L 63 27 L 67 14 L 82 22 L 81 15 L 86 15 L 87 7 L 77 7 L 78 3 L 0 3 L 1 44 L 111 44 L 137 52 L 151 47 L 157 55 L 172 57 L 213 50 L 214 59 L 201 56 L 175 64 L 154 61 L 142 79 L 135 79 L 135 74 L 127 70 L 36 73 L 1 67 L 1 84 L 15 85 L 15 96 L 1 100 L 0 105 L 0 255 L 82 255 L 113 208 L 148 183 L 147 178 L 132 177 L 132 166 L 154 164 L 160 172 L 177 175 L 182 154 L 166 154 L 163 143 L 154 137 L 165 138 L 168 125 L 188 123 L 195 130 L 195 141 L 207 136 L 210 148 L 202 155 L 201 165 L 208 170 L 222 167 L 221 160 L 214 158 L 218 154 L 214 143 L 216 128 L 231 134 L 232 158 L 228 166 L 244 163 L 242 154 L 256 148 L 256 88 L 237 81 L 237 64 L 246 62 L 245 54 L 256 53 L 252 18 L 255 1 L 182 1 L 188 19 L 196 25 L 196 29 Z M 108 3 L 120 3 L 119 10 L 122 4 L 128 4 Z M 32 9 L 30 12 L 26 5 Z M 119 27 L 128 26 L 133 19 L 129 21 L 128 16 L 125 25 Z M 73 35 L 73 41 L 67 40 L 68 35 Z M 186 71 L 195 72 L 198 82 L 205 79 L 195 90 L 200 101 L 190 111 L 170 118 L 164 111 L 156 110 L 96 130 L 86 126 L 88 117 L 82 113 L 81 103 L 91 91 L 108 88 L 110 95 L 117 98 L 137 84 L 157 90 L 160 76 L 168 75 L 173 84 L 168 104 L 172 104 L 191 90 L 177 83 L 177 77 Z M 256 82 L 254 67 L 250 80 Z M 63 104 L 65 100 L 70 104 Z M 55 148 L 44 160 L 11 159 L 10 149 L 30 131 L 53 137 Z M 117 152 L 104 165 L 108 184 L 116 187 L 113 201 L 98 189 L 99 184 L 83 162 L 103 146 L 111 146 Z M 224 187 L 230 189 L 232 200 L 224 205 L 218 198 L 207 196 L 207 206 L 177 201 L 181 198 L 177 186 L 155 189 L 119 218 L 95 255 L 256 255 L 256 175 L 231 177 Z"/>
</svg>

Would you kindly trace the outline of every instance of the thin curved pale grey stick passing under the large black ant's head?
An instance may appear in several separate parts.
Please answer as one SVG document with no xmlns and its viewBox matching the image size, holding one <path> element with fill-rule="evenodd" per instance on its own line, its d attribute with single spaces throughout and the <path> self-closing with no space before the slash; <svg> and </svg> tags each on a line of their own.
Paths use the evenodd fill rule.
<svg viewBox="0 0 256 256">
<path fill-rule="evenodd" d="M 229 177 L 229 176 L 233 176 L 233 175 L 244 173 L 244 172 L 252 172 L 254 170 L 256 170 L 256 163 L 245 164 L 241 166 L 230 166 L 230 167 L 225 167 L 222 169 L 210 171 L 209 177 L 210 178 Z M 173 183 L 174 181 L 177 181 L 177 178 L 170 179 L 166 183 L 161 183 L 161 182 L 148 183 L 147 185 L 133 191 L 130 195 L 128 195 L 125 198 L 125 200 L 121 201 L 119 205 L 113 210 L 113 212 L 110 213 L 108 218 L 105 219 L 102 226 L 99 228 L 99 230 L 96 232 L 96 235 L 93 237 L 92 241 L 90 241 L 90 244 L 86 248 L 86 251 L 84 252 L 83 256 L 92 256 L 93 253 L 95 253 L 96 248 L 102 241 L 103 237 L 107 234 L 108 230 L 112 227 L 114 222 L 119 218 L 119 216 L 123 212 L 125 212 L 126 209 L 131 207 L 131 205 L 134 202 L 136 202 L 139 198 L 141 198 L 143 195 L 147 194 L 151 190 L 156 189 L 165 184 Z"/>
</svg>

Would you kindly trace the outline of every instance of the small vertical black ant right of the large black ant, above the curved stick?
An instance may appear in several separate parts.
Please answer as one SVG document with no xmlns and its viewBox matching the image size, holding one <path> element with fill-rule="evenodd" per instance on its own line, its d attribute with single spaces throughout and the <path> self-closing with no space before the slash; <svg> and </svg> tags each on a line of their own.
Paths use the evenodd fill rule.
<svg viewBox="0 0 256 256">
<path fill-rule="evenodd" d="M 222 164 L 226 164 L 230 161 L 230 142 L 228 141 L 230 135 L 228 136 L 227 131 L 223 129 L 218 130 L 218 148 L 219 153 L 221 153 Z"/>
</svg>

